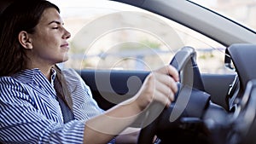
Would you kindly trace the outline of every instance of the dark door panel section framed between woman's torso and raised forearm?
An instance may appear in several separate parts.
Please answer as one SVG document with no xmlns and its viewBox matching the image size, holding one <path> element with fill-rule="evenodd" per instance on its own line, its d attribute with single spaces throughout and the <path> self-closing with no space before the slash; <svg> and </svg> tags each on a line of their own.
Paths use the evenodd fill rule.
<svg viewBox="0 0 256 144">
<path fill-rule="evenodd" d="M 149 72 L 82 70 L 81 77 L 90 86 L 94 99 L 102 109 L 113 107 L 135 95 Z"/>
</svg>

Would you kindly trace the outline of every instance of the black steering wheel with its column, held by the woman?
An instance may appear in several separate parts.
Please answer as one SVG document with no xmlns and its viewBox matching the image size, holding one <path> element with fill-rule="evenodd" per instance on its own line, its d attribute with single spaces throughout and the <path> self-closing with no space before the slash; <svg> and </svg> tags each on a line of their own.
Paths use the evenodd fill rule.
<svg viewBox="0 0 256 144">
<path fill-rule="evenodd" d="M 170 135 L 168 135 L 170 133 L 172 133 L 171 139 L 173 141 L 177 138 L 175 134 L 182 134 L 184 130 L 192 130 L 189 131 L 187 136 L 194 139 L 195 130 L 201 129 L 200 131 L 204 131 L 201 117 L 209 105 L 210 95 L 204 92 L 195 56 L 195 49 L 183 47 L 172 58 L 170 64 L 177 68 L 181 79 L 180 83 L 177 84 L 179 90 L 176 94 L 176 101 L 172 102 L 169 108 L 164 109 L 151 124 L 144 125 L 145 127 L 140 132 L 137 144 L 152 143 L 154 135 L 160 137 L 160 140 L 164 142 L 163 140 L 170 139 Z M 150 119 L 150 116 L 154 115 L 154 109 L 159 108 L 160 105 L 153 103 L 150 107 L 151 109 L 149 108 L 145 119 Z M 183 140 L 184 135 L 186 134 L 183 133 L 183 136 L 180 137 Z M 204 143 L 206 142 L 204 141 Z"/>
</svg>

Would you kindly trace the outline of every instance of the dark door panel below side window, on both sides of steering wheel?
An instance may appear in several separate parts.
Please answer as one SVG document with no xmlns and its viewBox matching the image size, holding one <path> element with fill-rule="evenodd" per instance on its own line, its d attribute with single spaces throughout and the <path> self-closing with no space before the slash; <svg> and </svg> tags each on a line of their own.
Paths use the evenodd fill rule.
<svg viewBox="0 0 256 144">
<path fill-rule="evenodd" d="M 99 106 L 106 110 L 135 95 L 149 72 L 82 70 L 79 73 L 84 82 L 90 86 L 93 97 Z M 230 89 L 235 74 L 203 73 L 201 78 L 207 93 L 212 97 L 212 101 L 226 109 L 225 96 Z"/>
</svg>

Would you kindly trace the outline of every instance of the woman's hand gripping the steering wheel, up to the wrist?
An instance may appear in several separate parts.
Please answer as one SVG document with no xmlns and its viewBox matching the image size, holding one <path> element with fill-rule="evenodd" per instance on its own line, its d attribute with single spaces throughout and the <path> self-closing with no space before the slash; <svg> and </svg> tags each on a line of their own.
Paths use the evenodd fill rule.
<svg viewBox="0 0 256 144">
<path fill-rule="evenodd" d="M 158 101 L 169 107 L 177 92 L 178 72 L 173 66 L 164 66 L 148 74 L 134 101 L 143 111 L 152 101 Z"/>
</svg>

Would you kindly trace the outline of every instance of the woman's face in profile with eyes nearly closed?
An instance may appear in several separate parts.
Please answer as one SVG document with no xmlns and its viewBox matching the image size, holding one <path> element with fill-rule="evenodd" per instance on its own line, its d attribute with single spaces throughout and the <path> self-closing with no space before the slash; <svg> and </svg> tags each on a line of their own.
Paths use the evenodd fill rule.
<svg viewBox="0 0 256 144">
<path fill-rule="evenodd" d="M 32 50 L 28 56 L 32 63 L 55 65 L 68 60 L 67 39 L 70 33 L 63 27 L 63 20 L 56 9 L 45 9 L 35 32 L 29 35 Z"/>
</svg>

